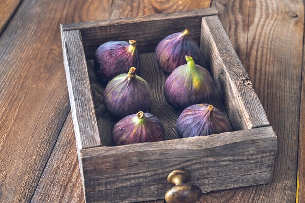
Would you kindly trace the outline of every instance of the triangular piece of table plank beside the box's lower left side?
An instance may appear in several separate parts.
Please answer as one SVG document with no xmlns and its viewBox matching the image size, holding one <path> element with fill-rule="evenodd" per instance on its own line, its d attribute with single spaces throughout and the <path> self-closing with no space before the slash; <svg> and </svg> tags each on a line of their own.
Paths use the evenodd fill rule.
<svg viewBox="0 0 305 203">
<path fill-rule="evenodd" d="M 71 112 L 58 136 L 31 202 L 84 202 Z"/>
</svg>

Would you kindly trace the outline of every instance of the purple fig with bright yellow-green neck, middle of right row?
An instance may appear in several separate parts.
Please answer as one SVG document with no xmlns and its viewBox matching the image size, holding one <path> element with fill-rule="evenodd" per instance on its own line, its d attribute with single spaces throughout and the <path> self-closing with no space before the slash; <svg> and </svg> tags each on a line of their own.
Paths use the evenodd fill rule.
<svg viewBox="0 0 305 203">
<path fill-rule="evenodd" d="M 208 103 L 213 95 L 213 79 L 207 69 L 196 65 L 192 57 L 175 69 L 164 85 L 166 101 L 176 109 L 184 109 L 196 103 Z"/>
</svg>

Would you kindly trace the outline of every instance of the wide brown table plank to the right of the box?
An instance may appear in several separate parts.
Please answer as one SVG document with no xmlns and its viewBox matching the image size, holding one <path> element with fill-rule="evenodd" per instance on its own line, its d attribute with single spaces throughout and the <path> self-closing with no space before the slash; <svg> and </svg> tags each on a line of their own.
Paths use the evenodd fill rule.
<svg viewBox="0 0 305 203">
<path fill-rule="evenodd" d="M 278 153 L 270 184 L 205 194 L 201 202 L 295 202 L 304 5 L 300 0 L 214 3 L 278 136 Z"/>
</svg>

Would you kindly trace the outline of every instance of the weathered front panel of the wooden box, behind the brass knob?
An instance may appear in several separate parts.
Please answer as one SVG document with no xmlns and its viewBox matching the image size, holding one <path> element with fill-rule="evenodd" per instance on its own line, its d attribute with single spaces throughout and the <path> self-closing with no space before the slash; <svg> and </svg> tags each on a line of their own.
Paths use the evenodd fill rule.
<svg viewBox="0 0 305 203">
<path fill-rule="evenodd" d="M 86 201 L 163 198 L 172 187 L 166 177 L 177 168 L 188 170 L 203 192 L 269 183 L 275 153 L 272 127 L 83 149 Z"/>
</svg>

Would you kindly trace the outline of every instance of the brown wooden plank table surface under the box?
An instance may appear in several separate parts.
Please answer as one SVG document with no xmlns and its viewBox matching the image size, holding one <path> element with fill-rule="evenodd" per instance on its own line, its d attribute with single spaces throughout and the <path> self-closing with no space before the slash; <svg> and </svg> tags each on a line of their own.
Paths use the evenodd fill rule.
<svg viewBox="0 0 305 203">
<path fill-rule="evenodd" d="M 210 192 L 200 202 L 305 203 L 302 0 L 1 0 L 0 202 L 84 202 L 61 23 L 209 6 L 250 76 L 278 152 L 272 183 Z"/>
</svg>

